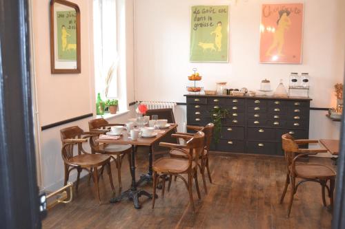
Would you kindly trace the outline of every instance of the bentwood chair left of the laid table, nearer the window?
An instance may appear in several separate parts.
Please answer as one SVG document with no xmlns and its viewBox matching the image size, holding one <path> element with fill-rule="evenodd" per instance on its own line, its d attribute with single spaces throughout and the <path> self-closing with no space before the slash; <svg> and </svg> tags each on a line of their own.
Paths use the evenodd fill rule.
<svg viewBox="0 0 345 229">
<path fill-rule="evenodd" d="M 90 120 L 88 122 L 88 127 L 90 131 L 103 131 L 106 133 L 112 126 L 119 126 L 124 124 L 110 124 L 103 118 L 97 118 L 94 120 Z M 130 144 L 99 144 L 96 142 L 98 136 L 91 138 L 90 146 L 92 149 L 92 153 L 102 153 L 111 155 L 111 157 L 115 161 L 115 165 L 117 168 L 117 179 L 119 180 L 119 187 L 122 188 L 121 183 L 121 165 L 124 155 L 128 155 L 128 160 L 130 159 L 130 152 L 132 150 L 132 146 Z M 103 173 L 103 168 L 101 168 L 101 174 Z"/>
</svg>

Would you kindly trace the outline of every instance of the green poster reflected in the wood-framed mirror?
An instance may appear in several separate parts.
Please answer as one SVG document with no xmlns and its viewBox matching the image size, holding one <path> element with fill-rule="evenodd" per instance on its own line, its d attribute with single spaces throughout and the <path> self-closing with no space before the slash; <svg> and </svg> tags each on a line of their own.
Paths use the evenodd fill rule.
<svg viewBox="0 0 345 229">
<path fill-rule="evenodd" d="M 57 11 L 57 59 L 58 61 L 77 61 L 75 10 Z"/>
</svg>

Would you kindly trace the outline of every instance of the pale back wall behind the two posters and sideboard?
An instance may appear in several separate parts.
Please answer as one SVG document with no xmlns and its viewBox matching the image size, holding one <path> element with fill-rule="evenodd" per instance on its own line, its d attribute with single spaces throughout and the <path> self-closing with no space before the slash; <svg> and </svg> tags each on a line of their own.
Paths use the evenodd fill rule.
<svg viewBox="0 0 345 229">
<path fill-rule="evenodd" d="M 311 75 L 312 107 L 335 105 L 333 85 L 343 82 L 344 1 L 306 0 L 302 65 L 259 64 L 259 24 L 262 3 L 288 0 L 137 0 L 135 1 L 135 82 L 137 100 L 185 102 L 187 76 L 197 67 L 199 85 L 215 89 L 225 80 L 231 88 L 259 88 L 263 78 L 275 89 L 288 85 L 290 72 Z M 301 1 L 290 1 L 301 2 Z M 230 5 L 230 63 L 190 63 L 190 6 Z M 181 107 L 181 106 L 179 106 Z M 185 109 L 177 116 L 185 117 Z M 311 138 L 339 138 L 339 123 L 311 111 Z"/>
</svg>

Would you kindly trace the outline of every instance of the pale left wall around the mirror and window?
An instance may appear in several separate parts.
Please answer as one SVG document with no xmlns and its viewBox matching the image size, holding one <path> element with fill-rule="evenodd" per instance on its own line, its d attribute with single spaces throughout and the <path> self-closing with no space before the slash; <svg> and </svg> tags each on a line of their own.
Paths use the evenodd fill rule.
<svg viewBox="0 0 345 229">
<path fill-rule="evenodd" d="M 34 77 L 37 90 L 39 126 L 39 155 L 41 189 L 55 190 L 63 184 L 63 161 L 59 130 L 78 125 L 88 130 L 86 118 L 77 122 L 41 131 L 40 127 L 53 122 L 95 112 L 95 76 L 92 41 L 92 1 L 72 0 L 81 11 L 81 74 L 50 74 L 49 0 L 32 0 Z M 133 1 L 126 1 L 126 75 L 128 102 L 134 100 L 133 89 Z M 112 118 L 124 122 L 132 112 Z M 75 179 L 72 174 L 71 181 Z"/>
</svg>

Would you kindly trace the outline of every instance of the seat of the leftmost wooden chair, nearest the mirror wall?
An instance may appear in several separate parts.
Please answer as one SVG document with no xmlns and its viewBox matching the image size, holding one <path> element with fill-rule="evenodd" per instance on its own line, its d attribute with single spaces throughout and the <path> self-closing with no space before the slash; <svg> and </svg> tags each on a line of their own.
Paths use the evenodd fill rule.
<svg viewBox="0 0 345 229">
<path fill-rule="evenodd" d="M 68 162 L 81 167 L 95 167 L 105 164 L 107 160 L 110 160 L 109 155 L 81 154 L 70 158 Z"/>
</svg>

